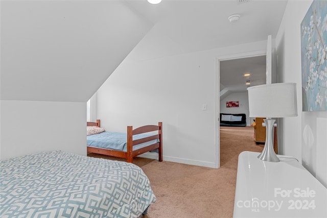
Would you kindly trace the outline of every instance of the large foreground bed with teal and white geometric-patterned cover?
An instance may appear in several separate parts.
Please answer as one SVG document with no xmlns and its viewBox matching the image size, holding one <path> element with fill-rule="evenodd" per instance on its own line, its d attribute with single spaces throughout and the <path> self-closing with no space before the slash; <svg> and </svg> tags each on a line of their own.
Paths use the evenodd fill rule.
<svg viewBox="0 0 327 218">
<path fill-rule="evenodd" d="M 53 151 L 0 163 L 1 217 L 138 217 L 156 200 L 127 162 Z"/>
</svg>

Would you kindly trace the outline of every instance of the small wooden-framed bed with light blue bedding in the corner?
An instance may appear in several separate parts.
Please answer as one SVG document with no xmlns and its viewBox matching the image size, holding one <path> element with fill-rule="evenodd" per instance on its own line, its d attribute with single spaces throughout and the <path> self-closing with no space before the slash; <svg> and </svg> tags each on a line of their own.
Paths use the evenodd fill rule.
<svg viewBox="0 0 327 218">
<path fill-rule="evenodd" d="M 87 136 L 87 152 L 103 154 L 127 159 L 133 162 L 133 157 L 157 149 L 158 160 L 162 161 L 162 123 L 147 125 L 133 129 L 127 127 L 127 133 L 105 132 L 100 130 L 100 119 L 97 122 L 87 122 L 92 133 Z M 155 135 L 150 134 L 156 132 Z M 146 133 L 146 134 L 144 134 Z"/>
</svg>

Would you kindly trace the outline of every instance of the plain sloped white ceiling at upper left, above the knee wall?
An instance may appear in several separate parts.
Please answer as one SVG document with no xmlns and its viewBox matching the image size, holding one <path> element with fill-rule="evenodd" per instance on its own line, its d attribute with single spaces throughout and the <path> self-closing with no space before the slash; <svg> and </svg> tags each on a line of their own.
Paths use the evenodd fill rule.
<svg viewBox="0 0 327 218">
<path fill-rule="evenodd" d="M 1 1 L 1 100 L 86 102 L 152 26 L 124 1 Z"/>
</svg>

